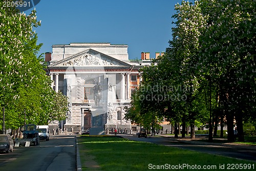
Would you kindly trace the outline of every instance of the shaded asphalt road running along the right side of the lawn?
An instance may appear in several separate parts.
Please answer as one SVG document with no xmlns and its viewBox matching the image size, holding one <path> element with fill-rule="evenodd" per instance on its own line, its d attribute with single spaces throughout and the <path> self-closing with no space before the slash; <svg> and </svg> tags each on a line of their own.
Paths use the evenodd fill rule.
<svg viewBox="0 0 256 171">
<path fill-rule="evenodd" d="M 250 160 L 250 161 L 256 162 L 256 150 L 254 149 L 221 146 L 221 145 L 191 144 L 191 143 L 179 142 L 173 138 L 168 138 L 168 137 L 138 138 L 136 136 L 126 136 L 126 135 L 122 135 L 122 137 L 129 138 L 130 140 L 134 140 L 134 141 L 151 142 L 155 144 L 162 144 L 162 145 L 173 146 L 173 147 L 178 147 L 182 149 L 189 149 L 197 152 L 227 156 L 227 157 Z"/>
</svg>

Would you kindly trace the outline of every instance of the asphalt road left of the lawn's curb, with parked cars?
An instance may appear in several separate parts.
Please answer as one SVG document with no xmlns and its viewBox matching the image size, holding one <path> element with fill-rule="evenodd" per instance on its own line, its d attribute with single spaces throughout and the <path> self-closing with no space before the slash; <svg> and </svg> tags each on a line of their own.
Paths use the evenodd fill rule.
<svg viewBox="0 0 256 171">
<path fill-rule="evenodd" d="M 74 135 L 50 136 L 37 146 L 14 147 L 9 154 L 0 153 L 0 170 L 76 170 Z"/>
</svg>

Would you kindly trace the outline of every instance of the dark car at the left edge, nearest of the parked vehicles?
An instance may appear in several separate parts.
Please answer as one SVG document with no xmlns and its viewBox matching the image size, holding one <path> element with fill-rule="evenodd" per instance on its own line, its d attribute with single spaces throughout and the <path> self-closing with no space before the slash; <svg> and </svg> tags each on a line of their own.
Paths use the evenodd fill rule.
<svg viewBox="0 0 256 171">
<path fill-rule="evenodd" d="M 0 152 L 13 152 L 14 143 L 9 134 L 0 135 Z"/>
</svg>

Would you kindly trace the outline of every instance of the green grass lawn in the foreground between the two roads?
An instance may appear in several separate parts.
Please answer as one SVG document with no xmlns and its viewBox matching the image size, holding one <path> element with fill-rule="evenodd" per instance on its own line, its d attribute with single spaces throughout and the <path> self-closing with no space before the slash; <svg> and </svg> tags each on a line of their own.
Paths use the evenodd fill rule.
<svg viewBox="0 0 256 171">
<path fill-rule="evenodd" d="M 256 168 L 256 163 L 250 161 L 131 141 L 115 136 L 79 136 L 77 140 L 82 170 L 206 170 L 203 169 L 204 166 L 211 167 L 207 170 Z M 96 165 L 98 167 L 95 167 Z M 220 169 L 220 166 L 225 169 Z M 232 166 L 234 169 L 228 169 Z M 199 167 L 201 169 L 196 169 Z"/>
</svg>

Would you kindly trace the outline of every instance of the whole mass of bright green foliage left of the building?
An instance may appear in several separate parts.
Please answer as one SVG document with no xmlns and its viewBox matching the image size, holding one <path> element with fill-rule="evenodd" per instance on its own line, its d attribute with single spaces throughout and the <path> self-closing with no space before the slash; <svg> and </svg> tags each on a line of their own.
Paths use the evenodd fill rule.
<svg viewBox="0 0 256 171">
<path fill-rule="evenodd" d="M 3 2 L 0 7 L 0 108 L 5 106 L 6 129 L 24 125 L 25 111 L 26 123 L 65 119 L 67 98 L 50 87 L 50 77 L 36 57 L 41 47 L 33 30 L 40 26 L 36 11 L 26 15 L 3 7 Z"/>
</svg>

